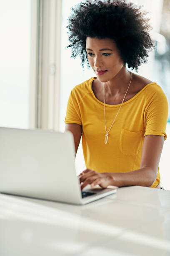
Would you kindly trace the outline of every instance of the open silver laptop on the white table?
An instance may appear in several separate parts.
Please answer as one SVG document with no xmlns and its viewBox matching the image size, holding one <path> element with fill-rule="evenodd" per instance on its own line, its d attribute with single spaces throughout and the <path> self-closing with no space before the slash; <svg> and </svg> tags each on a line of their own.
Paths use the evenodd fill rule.
<svg viewBox="0 0 170 256">
<path fill-rule="evenodd" d="M 80 189 L 71 132 L 0 128 L 0 192 L 84 205 L 116 187 Z"/>
</svg>

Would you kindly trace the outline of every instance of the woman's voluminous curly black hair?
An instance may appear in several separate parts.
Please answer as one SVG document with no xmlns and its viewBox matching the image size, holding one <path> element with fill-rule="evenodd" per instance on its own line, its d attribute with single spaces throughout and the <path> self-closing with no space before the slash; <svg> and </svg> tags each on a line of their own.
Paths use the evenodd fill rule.
<svg viewBox="0 0 170 256">
<path fill-rule="evenodd" d="M 85 50 L 86 38 L 110 38 L 115 41 L 128 68 L 138 72 L 138 66 L 148 62 L 148 51 L 155 49 L 149 35 L 150 19 L 144 17 L 147 13 L 141 6 L 126 0 L 86 0 L 75 5 L 67 26 L 71 43 L 67 48 L 72 47 L 71 57 L 79 54 L 83 69 L 85 60 L 90 67 Z"/>
</svg>

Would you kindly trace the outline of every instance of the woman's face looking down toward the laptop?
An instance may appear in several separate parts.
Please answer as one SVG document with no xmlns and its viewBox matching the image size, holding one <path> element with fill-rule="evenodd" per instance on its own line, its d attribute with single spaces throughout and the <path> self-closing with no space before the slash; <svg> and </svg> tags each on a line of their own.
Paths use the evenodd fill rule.
<svg viewBox="0 0 170 256">
<path fill-rule="evenodd" d="M 124 66 L 119 50 L 110 38 L 87 37 L 86 51 L 90 66 L 100 82 L 112 80 Z"/>
</svg>

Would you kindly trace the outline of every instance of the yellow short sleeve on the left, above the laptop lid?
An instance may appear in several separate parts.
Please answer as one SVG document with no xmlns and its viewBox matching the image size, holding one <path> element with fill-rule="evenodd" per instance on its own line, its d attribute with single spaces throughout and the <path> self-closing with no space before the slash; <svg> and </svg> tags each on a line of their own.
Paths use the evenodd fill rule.
<svg viewBox="0 0 170 256">
<path fill-rule="evenodd" d="M 73 90 L 71 91 L 67 102 L 65 123 L 77 123 L 82 125 L 78 99 Z"/>
</svg>

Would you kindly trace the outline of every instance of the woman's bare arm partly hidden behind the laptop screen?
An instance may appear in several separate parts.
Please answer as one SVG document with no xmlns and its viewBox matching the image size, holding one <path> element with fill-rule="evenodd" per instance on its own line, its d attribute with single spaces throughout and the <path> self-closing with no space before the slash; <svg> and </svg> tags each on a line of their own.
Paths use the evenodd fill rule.
<svg viewBox="0 0 170 256">
<path fill-rule="evenodd" d="M 69 123 L 65 125 L 65 131 L 72 132 L 74 136 L 75 143 L 75 155 L 77 154 L 77 149 L 80 143 L 80 139 L 82 136 L 82 125 L 78 125 L 77 123 Z"/>
</svg>

